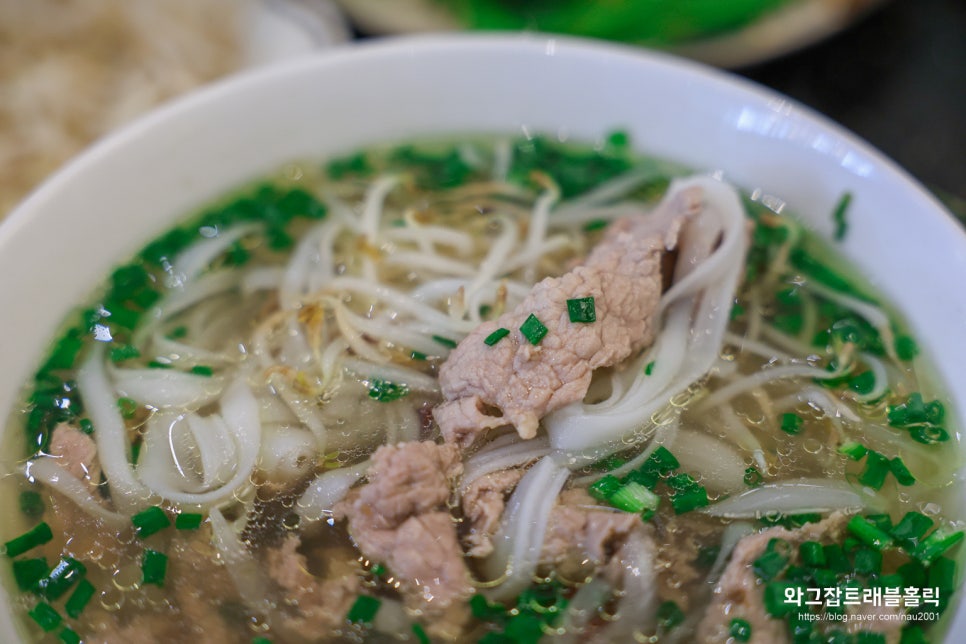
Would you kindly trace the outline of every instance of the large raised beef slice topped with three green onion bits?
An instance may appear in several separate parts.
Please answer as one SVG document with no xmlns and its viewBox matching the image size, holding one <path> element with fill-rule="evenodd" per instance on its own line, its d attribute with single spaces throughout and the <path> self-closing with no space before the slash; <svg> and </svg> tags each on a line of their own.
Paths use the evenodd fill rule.
<svg viewBox="0 0 966 644">
<path fill-rule="evenodd" d="M 533 438 L 543 416 L 584 397 L 595 369 L 650 344 L 662 260 L 701 203 L 700 189 L 689 188 L 647 217 L 615 222 L 583 264 L 541 281 L 513 311 L 460 342 L 439 372 L 445 402 L 433 413 L 444 438 L 468 446 L 502 425 Z M 588 297 L 594 298 L 596 321 L 571 322 L 567 300 Z M 530 315 L 548 329 L 536 345 L 520 331 Z M 510 335 L 487 346 L 483 340 L 501 327 Z"/>
</svg>

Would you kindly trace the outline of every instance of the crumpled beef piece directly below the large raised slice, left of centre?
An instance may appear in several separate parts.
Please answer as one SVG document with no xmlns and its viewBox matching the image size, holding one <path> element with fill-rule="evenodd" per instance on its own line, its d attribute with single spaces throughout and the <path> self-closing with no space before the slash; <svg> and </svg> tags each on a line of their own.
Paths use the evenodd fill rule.
<svg viewBox="0 0 966 644">
<path fill-rule="evenodd" d="M 359 550 L 399 579 L 407 606 L 427 614 L 442 614 L 472 592 L 447 508 L 462 471 L 453 445 L 383 446 L 367 482 L 335 509 Z"/>
</svg>

